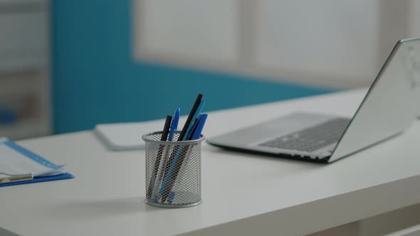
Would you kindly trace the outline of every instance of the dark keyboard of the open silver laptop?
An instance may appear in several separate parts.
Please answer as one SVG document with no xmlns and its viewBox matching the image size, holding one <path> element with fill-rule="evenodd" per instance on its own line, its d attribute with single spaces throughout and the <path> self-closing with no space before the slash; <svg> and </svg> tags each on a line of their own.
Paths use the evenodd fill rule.
<svg viewBox="0 0 420 236">
<path fill-rule="evenodd" d="M 337 142 L 349 122 L 350 119 L 345 118 L 332 119 L 315 127 L 281 136 L 259 145 L 297 151 L 315 151 Z"/>
</svg>

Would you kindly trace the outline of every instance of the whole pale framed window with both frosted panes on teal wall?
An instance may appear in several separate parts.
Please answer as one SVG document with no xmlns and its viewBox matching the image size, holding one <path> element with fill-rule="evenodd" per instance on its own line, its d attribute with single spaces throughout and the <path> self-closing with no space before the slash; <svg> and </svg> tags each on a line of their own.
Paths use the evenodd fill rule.
<svg viewBox="0 0 420 236">
<path fill-rule="evenodd" d="M 327 87 L 371 82 L 420 1 L 133 0 L 135 57 Z"/>
</svg>

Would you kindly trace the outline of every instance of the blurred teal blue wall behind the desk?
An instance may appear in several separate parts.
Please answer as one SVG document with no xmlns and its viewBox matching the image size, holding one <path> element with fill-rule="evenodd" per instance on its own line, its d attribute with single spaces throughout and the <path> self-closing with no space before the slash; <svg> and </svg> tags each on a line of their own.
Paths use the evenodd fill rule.
<svg viewBox="0 0 420 236">
<path fill-rule="evenodd" d="M 132 6 L 128 0 L 53 1 L 56 132 L 160 119 L 178 106 L 188 114 L 199 92 L 209 111 L 327 91 L 137 60 Z"/>
</svg>

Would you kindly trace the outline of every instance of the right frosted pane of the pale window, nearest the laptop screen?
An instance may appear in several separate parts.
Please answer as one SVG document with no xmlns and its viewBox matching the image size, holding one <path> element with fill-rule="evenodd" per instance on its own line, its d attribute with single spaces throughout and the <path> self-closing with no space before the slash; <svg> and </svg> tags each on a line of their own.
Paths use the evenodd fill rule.
<svg viewBox="0 0 420 236">
<path fill-rule="evenodd" d="M 257 65 L 325 81 L 372 78 L 379 70 L 379 14 L 379 1 L 263 0 Z"/>
</svg>

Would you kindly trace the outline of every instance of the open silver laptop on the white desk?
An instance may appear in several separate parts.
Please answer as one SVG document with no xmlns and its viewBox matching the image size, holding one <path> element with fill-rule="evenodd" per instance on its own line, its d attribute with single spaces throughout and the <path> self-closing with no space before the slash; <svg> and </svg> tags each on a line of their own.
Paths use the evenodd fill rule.
<svg viewBox="0 0 420 236">
<path fill-rule="evenodd" d="M 353 117 L 298 112 L 214 136 L 209 144 L 330 163 L 390 139 L 418 115 L 420 38 L 398 41 Z"/>
</svg>

